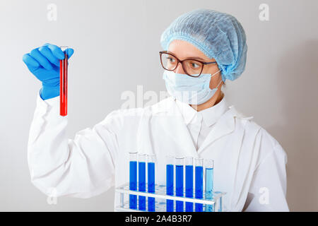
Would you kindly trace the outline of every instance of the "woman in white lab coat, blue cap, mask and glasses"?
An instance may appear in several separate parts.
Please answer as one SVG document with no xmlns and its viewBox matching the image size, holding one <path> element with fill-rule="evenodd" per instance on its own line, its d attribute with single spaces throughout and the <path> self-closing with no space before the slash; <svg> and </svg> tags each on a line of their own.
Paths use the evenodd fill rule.
<svg viewBox="0 0 318 226">
<path fill-rule="evenodd" d="M 214 160 L 214 188 L 228 211 L 288 211 L 287 156 L 265 129 L 228 106 L 221 88 L 245 70 L 245 31 L 233 16 L 196 9 L 161 35 L 160 64 L 170 97 L 151 107 L 119 109 L 66 137 L 59 116 L 59 59 L 53 44 L 23 56 L 42 81 L 30 127 L 33 184 L 49 195 L 89 198 L 129 181 L 129 152 L 155 154 L 156 183 L 165 184 L 165 158 Z M 66 49 L 71 57 L 73 49 Z M 114 205 L 119 205 L 115 196 Z"/>
</svg>

